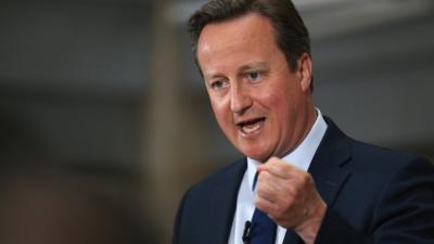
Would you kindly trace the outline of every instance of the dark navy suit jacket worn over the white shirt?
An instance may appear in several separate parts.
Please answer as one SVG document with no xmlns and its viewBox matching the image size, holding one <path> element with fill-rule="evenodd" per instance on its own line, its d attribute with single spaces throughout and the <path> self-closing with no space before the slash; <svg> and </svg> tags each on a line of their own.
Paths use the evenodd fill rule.
<svg viewBox="0 0 434 244">
<path fill-rule="evenodd" d="M 434 166 L 355 141 L 327 123 L 308 169 L 328 204 L 315 243 L 434 244 Z M 174 244 L 228 243 L 245 169 L 245 159 L 235 162 L 184 194 Z M 288 230 L 283 243 L 303 241 Z"/>
</svg>

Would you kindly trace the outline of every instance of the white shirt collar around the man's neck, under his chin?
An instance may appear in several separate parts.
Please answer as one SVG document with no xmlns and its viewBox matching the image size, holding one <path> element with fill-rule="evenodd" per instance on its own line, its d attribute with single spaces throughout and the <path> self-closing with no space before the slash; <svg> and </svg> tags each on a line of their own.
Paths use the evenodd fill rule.
<svg viewBox="0 0 434 244">
<path fill-rule="evenodd" d="M 307 171 L 307 169 L 309 168 L 315 152 L 317 152 L 319 143 L 324 137 L 328 127 L 321 112 L 317 107 L 316 110 L 317 119 L 310 128 L 309 133 L 306 136 L 305 139 L 303 139 L 302 143 L 299 143 L 299 145 L 295 147 L 295 150 L 282 157 L 283 160 L 305 171 Z M 247 180 L 250 185 L 253 185 L 253 181 L 256 175 L 256 168 L 259 165 L 259 162 L 247 157 Z"/>
</svg>

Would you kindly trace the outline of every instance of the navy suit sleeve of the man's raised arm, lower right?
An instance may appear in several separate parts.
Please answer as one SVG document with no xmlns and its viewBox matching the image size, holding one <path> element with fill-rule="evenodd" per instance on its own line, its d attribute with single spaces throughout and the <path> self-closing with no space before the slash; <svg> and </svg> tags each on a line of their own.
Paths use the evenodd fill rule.
<svg viewBox="0 0 434 244">
<path fill-rule="evenodd" d="M 371 219 L 369 228 L 357 230 L 330 208 L 315 243 L 433 244 L 434 166 L 418 158 L 397 170 L 376 200 Z"/>
</svg>

